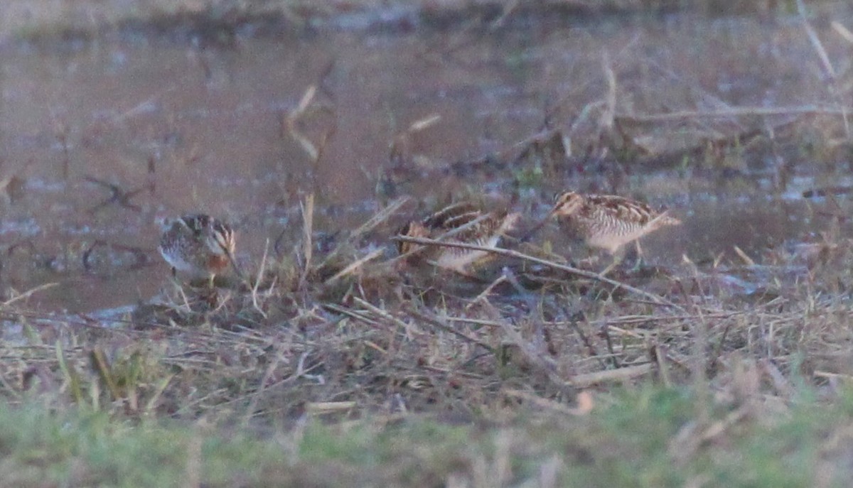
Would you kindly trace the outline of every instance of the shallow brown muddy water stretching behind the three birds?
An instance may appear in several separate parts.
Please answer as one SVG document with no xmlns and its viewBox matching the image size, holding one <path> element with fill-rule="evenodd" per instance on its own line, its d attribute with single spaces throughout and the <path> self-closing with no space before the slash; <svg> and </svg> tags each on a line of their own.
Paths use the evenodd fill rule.
<svg viewBox="0 0 853 488">
<path fill-rule="evenodd" d="M 853 25 L 849 9 L 839 10 L 833 20 Z M 846 62 L 850 44 L 828 21 L 814 25 L 830 59 Z M 608 71 L 619 114 L 837 107 L 796 20 L 327 32 L 204 48 L 125 38 L 7 46 L 2 61 L 0 284 L 3 299 L 52 286 L 21 299 L 45 311 L 93 311 L 157 293 L 168 275 L 155 250 L 158 214 L 228 219 L 240 232 L 238 258 L 251 267 L 268 239 L 281 236 L 285 252 L 299 240 L 299 200 L 312 188 L 316 229 L 325 233 L 356 226 L 398 195 L 429 208 L 485 193 L 539 217 L 556 189 L 617 190 L 685 221 L 646 246 L 653 259 L 677 263 L 682 254 L 699 259 L 734 245 L 761 253 L 808 239 L 827 225 L 815 214 L 826 204 L 798 195 L 845 183 L 848 170 L 785 154 L 794 183 L 770 191 L 766 158 L 742 161 L 735 177 L 687 160 L 659 171 L 621 167 L 617 178 L 595 158 L 577 158 L 595 140 Z M 295 126 L 314 142 L 328 136 L 316 166 L 282 123 L 311 85 L 316 96 Z M 432 116 L 432 125 L 409 131 Z M 677 147 L 785 117 L 667 122 L 646 132 Z M 546 120 L 577 147 L 571 162 L 528 181 L 535 161 L 508 154 Z"/>
</svg>

